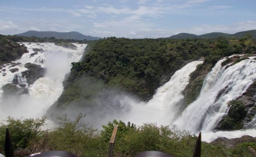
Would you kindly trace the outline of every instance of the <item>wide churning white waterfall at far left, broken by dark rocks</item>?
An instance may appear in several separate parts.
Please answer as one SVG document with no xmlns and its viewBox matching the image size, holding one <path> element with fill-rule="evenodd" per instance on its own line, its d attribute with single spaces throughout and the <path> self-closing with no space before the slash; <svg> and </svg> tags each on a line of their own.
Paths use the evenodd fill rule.
<svg viewBox="0 0 256 157">
<path fill-rule="evenodd" d="M 6 69 L 6 76 L 0 73 L 0 119 L 6 119 L 7 116 L 37 118 L 46 114 L 46 110 L 60 97 L 63 91 L 62 81 L 65 74 L 71 69 L 71 62 L 79 61 L 86 47 L 85 44 L 73 43 L 77 49 L 72 50 L 56 46 L 54 43 L 24 42 L 22 44 L 27 47 L 29 53 L 25 53 L 21 59 L 15 61 L 21 64 L 15 67 L 10 67 L 11 64 L 5 65 L 6 67 L 3 69 Z M 36 51 L 38 51 L 37 54 Z M 22 77 L 20 73 L 28 70 L 24 67 L 28 62 L 46 68 L 45 76 L 29 86 L 26 83 L 26 78 Z M 18 68 L 19 71 L 12 73 L 9 71 L 11 68 Z M 16 74 L 19 83 L 26 84 L 29 94 L 21 95 L 19 98 L 11 97 L 3 101 L 1 87 L 11 83 Z"/>
</svg>

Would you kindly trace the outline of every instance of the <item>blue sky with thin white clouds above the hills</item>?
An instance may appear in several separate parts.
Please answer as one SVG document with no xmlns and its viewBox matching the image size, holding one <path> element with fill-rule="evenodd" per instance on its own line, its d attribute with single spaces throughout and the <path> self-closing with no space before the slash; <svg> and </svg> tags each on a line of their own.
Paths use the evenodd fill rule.
<svg viewBox="0 0 256 157">
<path fill-rule="evenodd" d="M 0 34 L 159 38 L 256 29 L 256 0 L 1 0 Z"/>
</svg>

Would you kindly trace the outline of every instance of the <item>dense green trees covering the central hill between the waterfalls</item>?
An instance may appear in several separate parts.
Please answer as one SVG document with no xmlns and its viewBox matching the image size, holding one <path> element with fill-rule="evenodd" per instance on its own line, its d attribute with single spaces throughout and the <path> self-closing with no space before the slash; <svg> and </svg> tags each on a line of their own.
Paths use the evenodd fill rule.
<svg viewBox="0 0 256 157">
<path fill-rule="evenodd" d="M 94 41 L 81 62 L 72 63 L 67 81 L 91 75 L 109 86 L 121 86 L 142 99 L 153 96 L 163 75 L 170 76 L 185 61 L 210 52 L 213 40 L 126 39 L 110 37 Z M 125 80 L 128 79 L 128 80 Z"/>
</svg>

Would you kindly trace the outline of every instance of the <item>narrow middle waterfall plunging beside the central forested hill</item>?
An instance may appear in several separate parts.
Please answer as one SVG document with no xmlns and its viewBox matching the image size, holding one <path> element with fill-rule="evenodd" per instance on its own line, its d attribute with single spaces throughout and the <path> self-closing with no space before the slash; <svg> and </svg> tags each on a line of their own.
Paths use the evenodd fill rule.
<svg viewBox="0 0 256 157">
<path fill-rule="evenodd" d="M 189 75 L 196 69 L 196 66 L 203 61 L 193 61 L 177 70 L 163 86 L 159 87 L 156 94 L 148 102 L 135 102 L 129 97 L 122 99 L 120 104 L 129 104 L 128 114 L 122 113 L 119 119 L 131 121 L 137 125 L 145 122 L 159 122 L 161 125 L 170 125 L 177 104 L 183 99 L 183 90 L 189 84 Z"/>
</svg>

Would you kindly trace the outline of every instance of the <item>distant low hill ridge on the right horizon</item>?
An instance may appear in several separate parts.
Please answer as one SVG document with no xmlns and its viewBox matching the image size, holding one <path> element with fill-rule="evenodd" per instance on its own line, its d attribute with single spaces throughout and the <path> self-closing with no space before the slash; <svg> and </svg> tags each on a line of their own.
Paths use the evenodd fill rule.
<svg viewBox="0 0 256 157">
<path fill-rule="evenodd" d="M 247 33 L 250 33 L 252 35 L 252 38 L 256 39 L 256 29 L 255 30 L 248 30 L 248 31 L 243 31 L 243 32 L 238 32 L 235 34 L 228 34 L 228 33 L 221 33 L 221 32 L 212 32 L 212 33 L 207 33 L 203 35 L 194 35 L 194 34 L 189 34 L 189 33 L 179 33 L 177 35 L 168 37 L 171 39 L 186 39 L 186 38 L 218 38 L 220 36 L 223 37 L 244 37 Z"/>
</svg>

